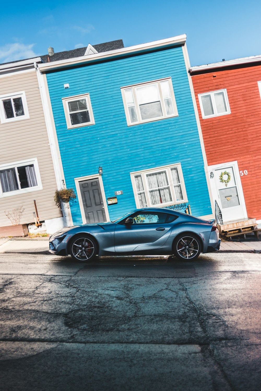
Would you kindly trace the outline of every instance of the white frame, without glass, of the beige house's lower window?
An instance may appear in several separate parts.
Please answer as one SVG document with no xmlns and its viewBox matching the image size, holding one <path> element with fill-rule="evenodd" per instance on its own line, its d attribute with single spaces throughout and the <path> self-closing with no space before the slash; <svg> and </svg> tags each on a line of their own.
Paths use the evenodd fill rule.
<svg viewBox="0 0 261 391">
<path fill-rule="evenodd" d="M 2 164 L 2 165 L 0 165 L 0 170 L 1 171 L 2 170 L 8 170 L 8 169 L 20 167 L 20 166 L 23 166 L 23 165 L 29 165 L 29 164 L 33 164 L 34 165 L 34 170 L 35 170 L 35 175 L 36 175 L 36 180 L 37 180 L 37 186 L 27 187 L 25 189 L 13 190 L 11 192 L 3 192 L 2 191 L 1 181 L 0 181 L 0 198 L 2 198 L 2 197 L 11 197 L 12 195 L 16 195 L 16 194 L 24 194 L 24 193 L 35 192 L 35 191 L 43 189 L 42 183 L 41 183 L 41 177 L 40 177 L 40 171 L 39 171 L 37 158 L 32 158 L 30 160 L 15 161 L 13 163 L 8 163 L 8 164 Z M 16 170 L 16 175 L 17 175 L 17 170 Z M 17 178 L 17 181 L 19 182 L 19 177 Z"/>
</svg>

